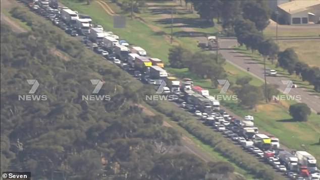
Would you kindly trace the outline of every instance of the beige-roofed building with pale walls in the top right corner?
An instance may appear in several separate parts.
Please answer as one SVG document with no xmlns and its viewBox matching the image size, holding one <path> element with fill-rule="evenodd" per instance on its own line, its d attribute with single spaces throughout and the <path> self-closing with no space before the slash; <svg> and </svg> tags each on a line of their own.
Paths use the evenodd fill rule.
<svg viewBox="0 0 320 180">
<path fill-rule="evenodd" d="M 296 0 L 278 6 L 279 20 L 285 24 L 318 23 L 320 0 Z"/>
</svg>

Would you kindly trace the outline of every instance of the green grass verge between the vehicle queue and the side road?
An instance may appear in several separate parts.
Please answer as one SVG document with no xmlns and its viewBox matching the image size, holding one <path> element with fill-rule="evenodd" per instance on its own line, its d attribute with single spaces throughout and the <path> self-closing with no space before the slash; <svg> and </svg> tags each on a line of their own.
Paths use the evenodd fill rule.
<svg viewBox="0 0 320 180">
<path fill-rule="evenodd" d="M 89 14 L 95 23 L 103 25 L 105 28 L 116 32 L 122 38 L 128 40 L 133 44 L 137 44 L 145 48 L 148 53 L 152 56 L 162 58 L 166 63 L 168 62 L 168 49 L 170 48 L 170 41 L 164 38 L 164 36 L 155 34 L 152 29 L 147 27 L 145 24 L 140 21 L 134 20 L 131 21 L 127 19 L 127 28 L 125 29 L 114 29 L 112 18 L 105 14 L 101 7 L 99 7 L 95 2 L 92 2 L 90 6 L 84 6 L 71 1 L 64 1 L 66 6 L 70 6 L 75 10 L 80 12 L 85 12 Z M 158 26 L 157 26 L 158 27 Z M 161 29 L 161 28 L 160 28 Z M 143 41 L 141 41 L 143 39 Z M 187 48 L 196 49 L 196 44 L 192 38 L 179 38 L 176 39 L 177 42 L 185 45 Z M 191 44 L 190 44 L 191 43 Z M 189 72 L 186 70 L 173 70 L 168 69 L 169 72 L 176 74 L 177 76 L 189 76 Z M 231 65 L 226 66 L 226 71 L 229 72 L 229 75 L 239 77 L 245 75 L 246 73 L 232 67 Z M 190 76 L 194 78 L 193 76 Z M 231 78 L 232 79 L 232 78 Z M 210 82 L 206 80 L 195 79 L 195 83 L 202 85 L 205 88 L 210 87 Z M 258 83 L 259 82 L 259 83 Z M 254 80 L 254 84 L 261 85 L 261 81 Z M 209 89 L 211 93 L 217 93 L 217 89 Z M 318 146 L 314 143 L 318 142 L 320 135 L 320 122 L 318 121 L 318 116 L 312 114 L 307 123 L 293 123 L 290 120 L 284 121 L 284 119 L 290 119 L 290 115 L 287 112 L 288 105 L 283 104 L 266 104 L 260 105 L 254 110 L 243 109 L 239 106 L 238 102 L 222 102 L 223 105 L 227 106 L 231 110 L 235 111 L 237 114 L 243 116 L 245 114 L 251 113 L 254 115 L 255 122 L 259 128 L 262 130 L 268 130 L 271 134 L 276 135 L 280 138 L 281 142 L 287 145 L 290 148 L 302 149 L 301 144 L 304 144 L 303 148 L 306 148 L 310 151 L 311 154 L 320 158 L 320 151 L 318 151 Z M 294 102 L 287 102 L 288 104 Z M 286 131 L 283 131 L 286 130 Z M 305 132 L 305 133 L 296 133 L 296 132 Z M 305 138 L 305 137 L 307 138 Z M 296 137 L 292 139 L 292 137 Z"/>
</svg>

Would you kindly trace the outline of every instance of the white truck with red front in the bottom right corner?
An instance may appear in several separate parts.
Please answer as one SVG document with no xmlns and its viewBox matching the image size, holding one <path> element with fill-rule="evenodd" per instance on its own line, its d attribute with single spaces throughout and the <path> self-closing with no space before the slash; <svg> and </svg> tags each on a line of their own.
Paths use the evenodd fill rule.
<svg viewBox="0 0 320 180">
<path fill-rule="evenodd" d="M 317 170 L 316 159 L 306 151 L 293 151 L 292 153 L 298 158 L 300 166 L 306 166 L 310 172 Z"/>
</svg>

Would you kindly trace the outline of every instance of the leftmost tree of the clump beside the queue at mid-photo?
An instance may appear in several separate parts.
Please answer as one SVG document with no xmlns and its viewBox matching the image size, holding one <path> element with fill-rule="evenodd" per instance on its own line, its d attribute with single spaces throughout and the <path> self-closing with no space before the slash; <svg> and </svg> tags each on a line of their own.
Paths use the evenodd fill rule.
<svg viewBox="0 0 320 180">
<path fill-rule="evenodd" d="M 186 68 L 184 62 L 191 57 L 191 52 L 181 46 L 174 46 L 169 49 L 169 62 L 172 68 Z"/>
</svg>

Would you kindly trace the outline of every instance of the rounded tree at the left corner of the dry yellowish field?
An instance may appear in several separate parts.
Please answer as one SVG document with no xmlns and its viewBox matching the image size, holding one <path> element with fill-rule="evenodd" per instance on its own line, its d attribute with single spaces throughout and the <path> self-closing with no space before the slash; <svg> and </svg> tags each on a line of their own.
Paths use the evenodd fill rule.
<svg viewBox="0 0 320 180">
<path fill-rule="evenodd" d="M 283 69 L 288 70 L 291 75 L 294 72 L 295 64 L 299 61 L 298 55 L 295 53 L 294 49 L 287 48 L 278 54 L 279 66 Z"/>
</svg>

